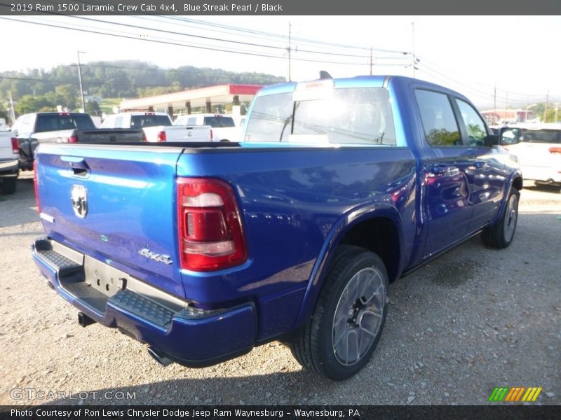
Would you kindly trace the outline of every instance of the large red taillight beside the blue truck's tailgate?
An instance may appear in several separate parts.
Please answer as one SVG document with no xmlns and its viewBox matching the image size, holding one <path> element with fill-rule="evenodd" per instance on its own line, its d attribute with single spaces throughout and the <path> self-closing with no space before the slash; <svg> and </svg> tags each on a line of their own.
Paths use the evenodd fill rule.
<svg viewBox="0 0 561 420">
<path fill-rule="evenodd" d="M 248 258 L 234 190 L 217 179 L 177 180 L 181 267 L 211 271 Z"/>
</svg>

